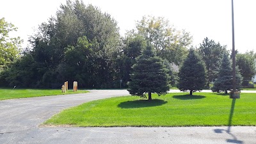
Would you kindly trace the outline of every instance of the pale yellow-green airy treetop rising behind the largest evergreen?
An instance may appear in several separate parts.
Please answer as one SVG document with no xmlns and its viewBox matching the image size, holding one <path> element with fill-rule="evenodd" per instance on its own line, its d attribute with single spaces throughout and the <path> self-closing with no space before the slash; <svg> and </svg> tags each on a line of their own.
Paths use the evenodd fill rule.
<svg viewBox="0 0 256 144">
<path fill-rule="evenodd" d="M 187 47 L 192 42 L 192 36 L 188 32 L 173 28 L 164 17 L 144 16 L 136 22 L 136 29 L 127 34 L 143 36 L 154 45 L 157 56 L 176 65 L 180 65 L 186 57 Z"/>
</svg>

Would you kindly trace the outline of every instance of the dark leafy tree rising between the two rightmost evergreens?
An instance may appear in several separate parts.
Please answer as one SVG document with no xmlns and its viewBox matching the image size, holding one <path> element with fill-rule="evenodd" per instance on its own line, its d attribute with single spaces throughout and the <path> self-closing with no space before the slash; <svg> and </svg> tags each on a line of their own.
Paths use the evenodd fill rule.
<svg viewBox="0 0 256 144">
<path fill-rule="evenodd" d="M 214 42 L 209 38 L 204 38 L 202 44 L 198 48 L 198 54 L 205 61 L 207 82 L 209 88 L 210 83 L 218 77 L 218 68 L 220 67 L 223 53 L 227 52 L 226 46 L 221 46 L 220 43 Z"/>
</svg>

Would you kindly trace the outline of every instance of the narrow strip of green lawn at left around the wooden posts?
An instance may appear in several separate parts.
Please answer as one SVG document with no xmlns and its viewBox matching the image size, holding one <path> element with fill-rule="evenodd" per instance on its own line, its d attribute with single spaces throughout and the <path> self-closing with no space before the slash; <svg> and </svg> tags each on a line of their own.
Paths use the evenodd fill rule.
<svg viewBox="0 0 256 144">
<path fill-rule="evenodd" d="M 63 94 L 72 94 L 72 93 L 86 93 L 85 90 L 68 90 L 66 93 L 61 93 L 61 90 L 45 90 L 45 89 L 8 89 L 0 88 L 0 100 L 4 99 L 18 99 L 25 97 L 41 97 L 47 95 L 63 95 Z"/>
</svg>

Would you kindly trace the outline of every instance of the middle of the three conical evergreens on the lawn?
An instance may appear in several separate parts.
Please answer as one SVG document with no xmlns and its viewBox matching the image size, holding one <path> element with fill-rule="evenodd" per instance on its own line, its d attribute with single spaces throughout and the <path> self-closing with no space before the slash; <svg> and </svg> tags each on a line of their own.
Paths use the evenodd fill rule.
<svg viewBox="0 0 256 144">
<path fill-rule="evenodd" d="M 204 88 L 206 83 L 205 65 L 194 49 L 190 49 L 188 57 L 180 67 L 178 76 L 177 87 L 183 92 L 189 90 L 189 95 Z"/>
</svg>

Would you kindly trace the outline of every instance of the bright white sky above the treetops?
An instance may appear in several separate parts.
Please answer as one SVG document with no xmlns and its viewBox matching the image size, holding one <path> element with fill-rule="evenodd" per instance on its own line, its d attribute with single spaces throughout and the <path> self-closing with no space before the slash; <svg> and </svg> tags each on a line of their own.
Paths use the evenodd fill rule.
<svg viewBox="0 0 256 144">
<path fill-rule="evenodd" d="M 232 49 L 231 0 L 83 1 L 109 13 L 118 22 L 121 35 L 134 28 L 135 21 L 143 15 L 153 15 L 165 17 L 177 29 L 186 29 L 195 46 L 207 36 Z M 33 29 L 56 15 L 61 3 L 66 0 L 1 0 L 0 18 L 19 28 L 15 35 L 24 40 L 25 47 Z M 255 0 L 234 0 L 235 43 L 239 52 L 256 50 L 255 7 Z"/>
</svg>

